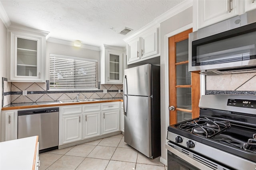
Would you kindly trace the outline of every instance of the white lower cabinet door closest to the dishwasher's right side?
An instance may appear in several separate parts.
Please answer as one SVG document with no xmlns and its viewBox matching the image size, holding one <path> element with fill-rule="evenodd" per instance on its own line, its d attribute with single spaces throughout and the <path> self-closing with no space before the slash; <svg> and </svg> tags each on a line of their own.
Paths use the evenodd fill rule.
<svg viewBox="0 0 256 170">
<path fill-rule="evenodd" d="M 62 117 L 62 143 L 70 143 L 82 139 L 82 114 Z"/>
</svg>

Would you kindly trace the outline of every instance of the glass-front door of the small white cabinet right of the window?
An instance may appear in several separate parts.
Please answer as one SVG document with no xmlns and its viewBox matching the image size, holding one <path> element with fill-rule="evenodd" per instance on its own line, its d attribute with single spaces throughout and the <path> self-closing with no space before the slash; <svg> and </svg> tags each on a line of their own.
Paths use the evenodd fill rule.
<svg viewBox="0 0 256 170">
<path fill-rule="evenodd" d="M 108 80 L 110 83 L 122 83 L 122 53 L 108 51 Z"/>
</svg>

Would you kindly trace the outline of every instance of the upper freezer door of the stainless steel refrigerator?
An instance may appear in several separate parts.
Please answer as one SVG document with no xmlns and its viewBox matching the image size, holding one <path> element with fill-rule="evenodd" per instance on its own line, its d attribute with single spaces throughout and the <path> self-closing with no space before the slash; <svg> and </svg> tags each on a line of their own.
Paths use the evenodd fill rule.
<svg viewBox="0 0 256 170">
<path fill-rule="evenodd" d="M 124 70 L 124 94 L 151 96 L 151 64 Z"/>
</svg>

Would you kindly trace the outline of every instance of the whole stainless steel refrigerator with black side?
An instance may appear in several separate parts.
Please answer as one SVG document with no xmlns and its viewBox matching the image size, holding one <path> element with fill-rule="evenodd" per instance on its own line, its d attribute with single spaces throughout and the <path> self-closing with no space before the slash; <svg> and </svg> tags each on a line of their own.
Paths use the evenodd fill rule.
<svg viewBox="0 0 256 170">
<path fill-rule="evenodd" d="M 124 142 L 149 158 L 161 155 L 160 66 L 124 70 Z"/>
</svg>

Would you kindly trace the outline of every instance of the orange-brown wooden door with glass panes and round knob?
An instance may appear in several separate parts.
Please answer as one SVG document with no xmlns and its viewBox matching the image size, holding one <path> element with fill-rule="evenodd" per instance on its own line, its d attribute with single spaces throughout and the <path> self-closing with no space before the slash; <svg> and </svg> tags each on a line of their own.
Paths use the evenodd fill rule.
<svg viewBox="0 0 256 170">
<path fill-rule="evenodd" d="M 169 38 L 170 125 L 199 116 L 200 74 L 188 72 L 188 34 Z"/>
</svg>

